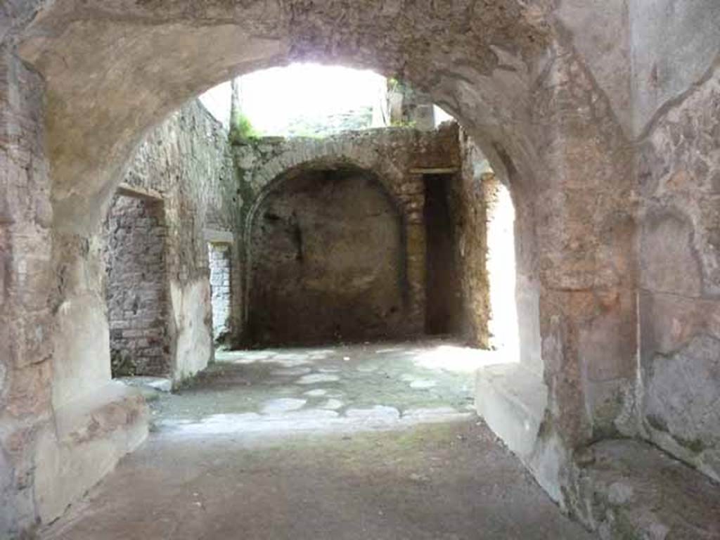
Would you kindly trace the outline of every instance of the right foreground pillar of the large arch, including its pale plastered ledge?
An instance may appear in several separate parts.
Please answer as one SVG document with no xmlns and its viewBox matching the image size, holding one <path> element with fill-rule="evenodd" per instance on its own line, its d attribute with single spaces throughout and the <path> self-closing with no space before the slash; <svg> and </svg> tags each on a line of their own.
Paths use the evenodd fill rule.
<svg viewBox="0 0 720 540">
<path fill-rule="evenodd" d="M 607 97 L 554 48 L 530 107 L 531 181 L 498 152 L 516 202 L 521 362 L 480 370 L 476 405 L 549 495 L 580 511 L 575 452 L 632 434 L 636 210 L 631 145 Z"/>
</svg>

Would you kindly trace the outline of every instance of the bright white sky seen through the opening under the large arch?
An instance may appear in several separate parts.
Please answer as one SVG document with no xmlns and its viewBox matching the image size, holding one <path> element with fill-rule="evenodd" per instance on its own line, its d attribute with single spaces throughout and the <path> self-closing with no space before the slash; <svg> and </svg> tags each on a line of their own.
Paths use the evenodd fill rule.
<svg viewBox="0 0 720 540">
<path fill-rule="evenodd" d="M 379 104 L 385 89 L 385 78 L 372 71 L 297 63 L 241 77 L 240 101 L 253 127 L 266 135 L 279 135 L 294 117 L 324 117 Z M 229 82 L 210 89 L 200 99 L 228 125 Z"/>
</svg>

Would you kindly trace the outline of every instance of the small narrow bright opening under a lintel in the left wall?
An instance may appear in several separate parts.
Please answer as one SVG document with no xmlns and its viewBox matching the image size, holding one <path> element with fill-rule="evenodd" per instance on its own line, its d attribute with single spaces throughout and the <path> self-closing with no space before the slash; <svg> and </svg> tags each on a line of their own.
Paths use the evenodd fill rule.
<svg viewBox="0 0 720 540">
<path fill-rule="evenodd" d="M 212 302 L 212 337 L 216 345 L 225 343 L 230 333 L 230 244 L 207 243 L 210 261 L 210 299 Z"/>
</svg>

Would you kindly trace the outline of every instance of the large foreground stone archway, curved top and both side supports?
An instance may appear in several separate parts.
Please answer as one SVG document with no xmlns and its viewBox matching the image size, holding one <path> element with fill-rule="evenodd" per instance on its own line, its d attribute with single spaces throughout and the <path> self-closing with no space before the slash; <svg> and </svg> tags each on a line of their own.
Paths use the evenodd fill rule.
<svg viewBox="0 0 720 540">
<path fill-rule="evenodd" d="M 43 133 L 47 140 L 45 148 L 32 148 L 40 163 L 37 272 L 44 277 L 30 285 L 53 302 L 31 319 L 55 336 L 55 350 L 34 368 L 44 372 L 28 376 L 31 390 L 23 390 L 27 379 L 19 376 L 10 383 L 12 395 L 32 395 L 34 402 L 13 409 L 10 432 L 27 423 L 45 426 L 57 413 L 48 399 L 53 361 L 82 356 L 92 364 L 94 341 L 105 331 L 93 239 L 144 133 L 230 76 L 313 59 L 374 68 L 428 91 L 513 189 L 519 281 L 541 337 L 534 354 L 548 392 L 543 423 L 521 457 L 564 501 L 573 449 L 616 432 L 631 393 L 636 336 L 626 328 L 635 328 L 634 202 L 631 152 L 613 103 L 545 2 L 35 5 L 37 17 L 24 19 L 12 36 L 25 65 L 11 53 L 5 61 L 24 82 L 16 105 L 31 120 L 23 128 L 33 140 Z M 35 212 L 21 217 L 35 222 Z M 29 312 L 22 303 L 12 310 Z M 65 336 L 55 333 L 58 327 Z M 19 338 L 25 330 L 13 331 Z M 95 391 L 87 391 L 91 399 Z M 74 496 L 67 490 L 53 499 L 62 471 L 59 458 L 54 465 L 45 458 L 59 455 L 49 431 L 40 447 L 50 464 L 33 483 L 32 464 L 41 455 L 36 438 L 28 434 L 12 458 L 14 474 L 28 474 L 34 486 L 13 504 L 25 508 L 22 523 L 51 519 L 67 502 L 63 496 Z"/>
</svg>

